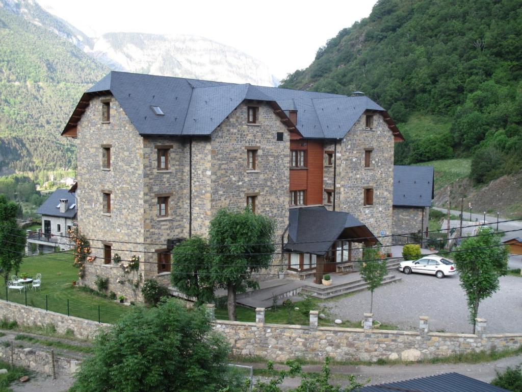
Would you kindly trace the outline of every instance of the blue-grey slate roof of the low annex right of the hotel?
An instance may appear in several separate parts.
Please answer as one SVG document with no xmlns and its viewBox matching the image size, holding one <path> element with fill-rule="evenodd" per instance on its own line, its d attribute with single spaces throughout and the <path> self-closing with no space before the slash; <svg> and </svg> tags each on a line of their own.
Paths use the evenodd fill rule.
<svg viewBox="0 0 522 392">
<path fill-rule="evenodd" d="M 433 166 L 393 167 L 393 205 L 430 207 L 433 198 Z"/>
</svg>

